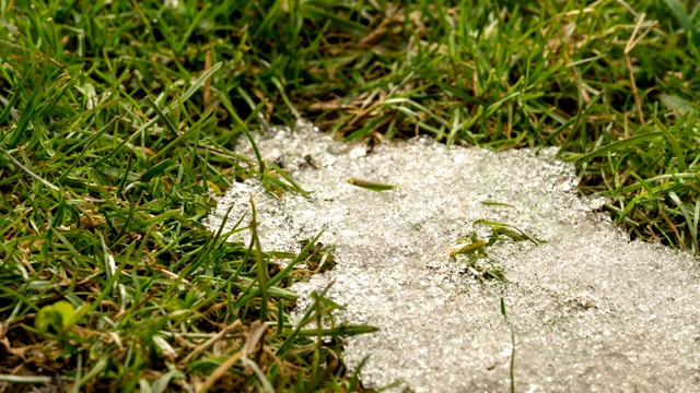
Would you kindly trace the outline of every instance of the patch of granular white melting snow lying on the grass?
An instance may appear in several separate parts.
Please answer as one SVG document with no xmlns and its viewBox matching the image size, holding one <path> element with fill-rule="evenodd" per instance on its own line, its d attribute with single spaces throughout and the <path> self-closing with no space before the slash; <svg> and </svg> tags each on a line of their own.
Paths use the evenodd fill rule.
<svg viewBox="0 0 700 393">
<path fill-rule="evenodd" d="M 576 195 L 574 168 L 556 150 L 494 153 L 419 139 L 368 152 L 306 123 L 275 129 L 258 147 L 311 196 L 236 183 L 208 225 L 215 230 L 233 204 L 231 227 L 253 195 L 267 250 L 299 251 L 326 229 L 320 241 L 335 246 L 337 265 L 292 289 L 304 308 L 335 281 L 328 296 L 346 306 L 338 318 L 381 329 L 346 343 L 351 369 L 370 356 L 366 386 L 506 391 L 512 326 L 517 391 L 700 390 L 698 260 L 630 241 L 593 213 L 602 202 Z M 396 188 L 374 192 L 349 178 Z M 492 234 L 478 221 L 546 242 L 490 245 L 480 263 L 505 282 L 481 284 L 454 258 L 457 239 Z"/>
</svg>

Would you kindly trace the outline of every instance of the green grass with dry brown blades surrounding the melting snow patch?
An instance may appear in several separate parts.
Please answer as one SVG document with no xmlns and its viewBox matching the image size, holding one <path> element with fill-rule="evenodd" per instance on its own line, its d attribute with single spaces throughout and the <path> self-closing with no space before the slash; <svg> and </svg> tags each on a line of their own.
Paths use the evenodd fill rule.
<svg viewBox="0 0 700 393">
<path fill-rule="evenodd" d="M 303 192 L 235 148 L 298 116 L 370 144 L 561 146 L 633 238 L 699 249 L 700 4 L 1 7 L 0 385 L 362 390 L 340 344 L 370 327 L 292 330 L 296 273 L 201 224 L 232 181 Z"/>
</svg>

